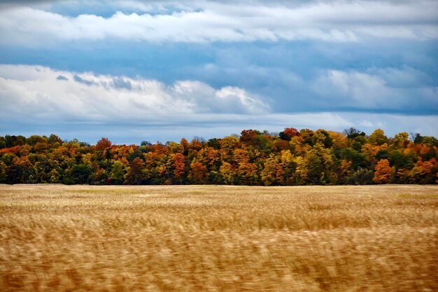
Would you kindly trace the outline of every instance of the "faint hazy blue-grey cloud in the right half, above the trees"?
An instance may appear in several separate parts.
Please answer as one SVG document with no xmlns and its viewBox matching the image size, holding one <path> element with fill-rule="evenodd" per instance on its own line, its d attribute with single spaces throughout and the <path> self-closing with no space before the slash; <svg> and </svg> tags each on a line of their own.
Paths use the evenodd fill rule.
<svg viewBox="0 0 438 292">
<path fill-rule="evenodd" d="M 437 88 L 420 85 L 413 69 L 328 70 L 315 81 L 313 91 L 338 108 L 369 111 L 437 110 Z M 400 78 L 398 81 L 397 78 Z M 410 86 L 404 88 L 400 83 Z"/>
</svg>

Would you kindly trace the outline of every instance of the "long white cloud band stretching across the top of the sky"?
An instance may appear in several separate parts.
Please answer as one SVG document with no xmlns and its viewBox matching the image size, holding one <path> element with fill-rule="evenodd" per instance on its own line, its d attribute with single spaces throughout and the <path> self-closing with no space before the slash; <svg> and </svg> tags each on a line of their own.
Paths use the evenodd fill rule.
<svg viewBox="0 0 438 292">
<path fill-rule="evenodd" d="M 1 43 L 46 46 L 57 41 L 122 39 L 132 41 L 360 41 L 379 38 L 437 39 L 438 2 L 115 1 L 108 18 L 67 17 L 26 6 L 0 10 Z"/>
</svg>

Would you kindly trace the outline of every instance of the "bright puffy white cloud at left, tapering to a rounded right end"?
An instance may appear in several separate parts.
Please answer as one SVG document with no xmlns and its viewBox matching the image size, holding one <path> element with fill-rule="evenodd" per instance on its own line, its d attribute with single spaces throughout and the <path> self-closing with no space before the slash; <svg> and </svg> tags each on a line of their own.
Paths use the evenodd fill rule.
<svg viewBox="0 0 438 292">
<path fill-rule="evenodd" d="M 166 120 L 199 113 L 269 111 L 260 97 L 241 88 L 216 90 L 199 81 L 165 85 L 39 66 L 0 65 L 0 88 L 3 119 L 21 115 L 54 120 Z"/>
</svg>

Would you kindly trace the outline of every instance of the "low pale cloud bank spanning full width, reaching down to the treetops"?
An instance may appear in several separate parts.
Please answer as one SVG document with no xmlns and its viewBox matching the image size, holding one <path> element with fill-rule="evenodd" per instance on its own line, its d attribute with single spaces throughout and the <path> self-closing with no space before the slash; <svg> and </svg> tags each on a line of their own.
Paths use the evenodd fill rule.
<svg viewBox="0 0 438 292">
<path fill-rule="evenodd" d="M 335 80 L 357 77 L 330 74 L 327 78 L 334 76 Z M 344 83 L 335 85 L 348 90 L 343 89 Z M 0 88 L 3 134 L 53 132 L 64 139 L 94 142 L 105 136 L 118 143 L 139 143 L 194 135 L 223 137 L 245 128 L 279 131 L 293 126 L 341 131 L 355 126 L 368 132 L 383 127 L 388 134 L 407 130 L 438 135 L 433 126 L 438 123 L 437 115 L 281 113 L 273 111 L 268 99 L 243 88 L 215 89 L 199 81 L 166 85 L 153 79 L 3 64 Z"/>
</svg>

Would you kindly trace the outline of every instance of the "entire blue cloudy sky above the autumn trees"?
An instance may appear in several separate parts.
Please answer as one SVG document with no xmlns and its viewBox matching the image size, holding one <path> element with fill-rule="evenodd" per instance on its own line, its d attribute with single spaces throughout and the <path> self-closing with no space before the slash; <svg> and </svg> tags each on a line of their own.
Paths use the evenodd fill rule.
<svg viewBox="0 0 438 292">
<path fill-rule="evenodd" d="M 2 136 L 437 125 L 435 0 L 0 0 Z"/>
</svg>

